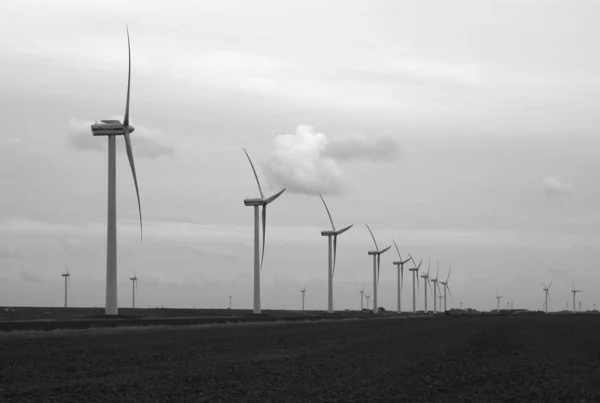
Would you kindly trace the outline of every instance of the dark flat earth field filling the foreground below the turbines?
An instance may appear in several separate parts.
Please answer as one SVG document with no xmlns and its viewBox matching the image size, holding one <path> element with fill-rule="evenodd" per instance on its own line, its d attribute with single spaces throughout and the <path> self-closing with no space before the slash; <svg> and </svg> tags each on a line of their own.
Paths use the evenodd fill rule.
<svg viewBox="0 0 600 403">
<path fill-rule="evenodd" d="M 0 333 L 1 402 L 599 402 L 600 318 Z"/>
</svg>

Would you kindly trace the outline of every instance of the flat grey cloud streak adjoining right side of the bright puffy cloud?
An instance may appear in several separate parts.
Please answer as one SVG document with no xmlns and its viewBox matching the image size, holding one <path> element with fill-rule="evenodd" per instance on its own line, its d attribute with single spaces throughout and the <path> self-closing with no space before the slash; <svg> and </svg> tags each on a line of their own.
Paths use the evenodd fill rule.
<svg viewBox="0 0 600 403">
<path fill-rule="evenodd" d="M 395 161 L 400 156 L 400 146 L 391 136 L 343 137 L 339 139 L 333 139 L 329 142 L 327 154 L 338 161 Z"/>
</svg>

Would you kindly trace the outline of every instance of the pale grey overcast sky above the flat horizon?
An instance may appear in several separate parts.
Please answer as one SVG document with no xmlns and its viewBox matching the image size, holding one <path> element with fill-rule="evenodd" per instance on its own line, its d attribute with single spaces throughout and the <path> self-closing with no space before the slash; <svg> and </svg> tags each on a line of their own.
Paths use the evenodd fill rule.
<svg viewBox="0 0 600 403">
<path fill-rule="evenodd" d="M 142 212 L 117 139 L 119 304 L 252 305 L 252 209 L 269 205 L 263 309 L 372 294 L 373 248 L 452 265 L 449 307 L 600 304 L 600 4 L 25 1 L 0 4 L 0 305 L 103 306 L 107 139 L 128 24 Z M 395 309 L 392 248 L 379 305 Z M 421 286 L 423 284 L 421 283 Z M 403 306 L 411 307 L 405 277 Z M 596 300 L 596 296 L 598 299 Z M 429 306 L 431 307 L 430 300 Z M 569 306 L 571 304 L 569 303 Z M 423 290 L 418 309 L 423 307 Z"/>
</svg>

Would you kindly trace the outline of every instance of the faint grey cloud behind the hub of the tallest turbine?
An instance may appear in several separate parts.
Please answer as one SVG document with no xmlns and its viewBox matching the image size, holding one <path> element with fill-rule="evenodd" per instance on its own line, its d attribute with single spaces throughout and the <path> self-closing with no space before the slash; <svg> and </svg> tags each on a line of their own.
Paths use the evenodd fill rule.
<svg viewBox="0 0 600 403">
<path fill-rule="evenodd" d="M 121 117 L 112 117 L 111 119 L 122 120 Z M 92 136 L 90 124 L 91 122 L 71 118 L 67 136 L 69 144 L 82 151 L 106 151 L 108 142 Z M 162 131 L 136 126 L 133 122 L 132 125 L 135 126 L 135 131 L 131 134 L 131 143 L 133 154 L 136 157 L 154 159 L 162 156 L 173 156 L 173 148 L 161 144 L 161 142 L 164 142 Z M 124 140 L 117 141 L 117 152 L 125 153 Z"/>
</svg>

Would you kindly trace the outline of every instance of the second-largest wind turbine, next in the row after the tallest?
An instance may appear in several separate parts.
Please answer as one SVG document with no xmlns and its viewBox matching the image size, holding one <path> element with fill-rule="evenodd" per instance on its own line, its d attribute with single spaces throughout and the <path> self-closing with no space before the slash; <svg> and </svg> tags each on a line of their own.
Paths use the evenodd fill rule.
<svg viewBox="0 0 600 403">
<path fill-rule="evenodd" d="M 277 199 L 285 189 L 280 190 L 278 193 L 275 193 L 273 196 L 265 198 L 262 188 L 260 187 L 260 182 L 258 180 L 258 175 L 256 174 L 256 169 L 254 169 L 254 164 L 248 155 L 248 152 L 244 148 L 244 153 L 246 153 L 246 157 L 248 157 L 248 161 L 250 162 L 250 166 L 252 167 L 252 172 L 254 172 L 254 177 L 256 178 L 256 184 L 258 185 L 258 191 L 260 192 L 260 198 L 256 199 L 244 199 L 244 205 L 253 206 L 254 207 L 254 313 L 260 313 L 260 271 L 262 270 L 263 259 L 265 257 L 265 236 L 266 236 L 266 225 L 267 225 L 267 204 L 271 203 L 275 199 Z M 258 208 L 262 206 L 262 228 L 263 228 L 263 240 L 262 240 L 262 255 L 259 260 L 259 249 L 260 249 L 260 237 L 259 237 L 259 223 L 258 223 Z"/>
</svg>

